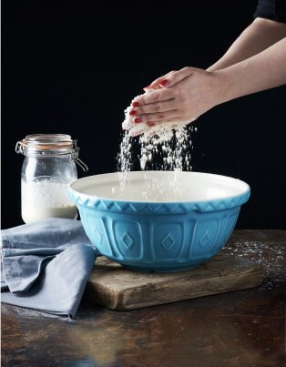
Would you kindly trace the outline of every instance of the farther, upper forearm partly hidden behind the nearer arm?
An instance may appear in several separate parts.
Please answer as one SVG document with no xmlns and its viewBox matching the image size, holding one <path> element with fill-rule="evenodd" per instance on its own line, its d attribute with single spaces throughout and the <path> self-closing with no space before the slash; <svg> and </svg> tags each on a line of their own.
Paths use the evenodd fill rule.
<svg viewBox="0 0 286 367">
<path fill-rule="evenodd" d="M 214 65 L 209 66 L 208 71 L 220 70 L 259 54 L 285 36 L 286 24 L 256 18 L 230 46 L 225 55 Z"/>
</svg>

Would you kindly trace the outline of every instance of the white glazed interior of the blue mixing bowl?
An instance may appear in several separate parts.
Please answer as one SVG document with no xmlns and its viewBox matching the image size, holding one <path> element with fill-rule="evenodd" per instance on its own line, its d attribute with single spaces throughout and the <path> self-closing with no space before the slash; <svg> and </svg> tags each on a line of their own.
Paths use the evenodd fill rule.
<svg viewBox="0 0 286 367">
<path fill-rule="evenodd" d="M 240 196 L 250 190 L 238 178 L 201 172 L 132 171 L 79 178 L 77 195 L 144 202 L 186 202 Z"/>
</svg>

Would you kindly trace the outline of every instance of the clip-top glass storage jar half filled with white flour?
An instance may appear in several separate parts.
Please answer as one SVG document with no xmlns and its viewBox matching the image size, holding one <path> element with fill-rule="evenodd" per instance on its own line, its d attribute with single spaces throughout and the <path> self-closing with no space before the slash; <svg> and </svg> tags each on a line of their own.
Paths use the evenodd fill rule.
<svg viewBox="0 0 286 367">
<path fill-rule="evenodd" d="M 77 206 L 68 198 L 69 185 L 77 179 L 77 140 L 66 134 L 27 135 L 16 143 L 25 156 L 21 175 L 21 211 L 25 223 L 46 218 L 77 219 Z"/>
</svg>

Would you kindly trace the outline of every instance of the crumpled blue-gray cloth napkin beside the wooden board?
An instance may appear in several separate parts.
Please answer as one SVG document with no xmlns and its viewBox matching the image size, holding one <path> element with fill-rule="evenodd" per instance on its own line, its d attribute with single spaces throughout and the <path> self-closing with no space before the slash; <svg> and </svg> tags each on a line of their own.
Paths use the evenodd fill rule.
<svg viewBox="0 0 286 367">
<path fill-rule="evenodd" d="M 97 259 L 80 220 L 1 230 L 1 301 L 74 317 Z"/>
</svg>

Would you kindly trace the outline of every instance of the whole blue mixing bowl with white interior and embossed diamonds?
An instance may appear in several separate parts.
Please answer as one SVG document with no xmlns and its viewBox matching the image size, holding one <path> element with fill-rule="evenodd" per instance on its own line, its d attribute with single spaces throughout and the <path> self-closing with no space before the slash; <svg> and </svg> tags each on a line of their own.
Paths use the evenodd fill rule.
<svg viewBox="0 0 286 367">
<path fill-rule="evenodd" d="M 220 251 L 250 187 L 209 173 L 132 171 L 79 178 L 70 198 L 107 259 L 132 270 L 178 271 Z"/>
</svg>

